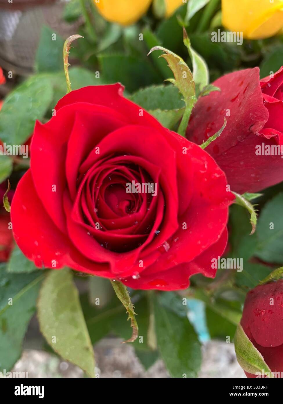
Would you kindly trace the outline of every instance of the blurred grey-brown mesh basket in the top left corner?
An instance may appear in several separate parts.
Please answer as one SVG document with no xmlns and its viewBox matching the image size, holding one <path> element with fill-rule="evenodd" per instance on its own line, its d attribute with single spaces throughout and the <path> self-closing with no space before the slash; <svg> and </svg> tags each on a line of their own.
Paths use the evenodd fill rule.
<svg viewBox="0 0 283 404">
<path fill-rule="evenodd" d="M 67 38 L 76 33 L 81 20 L 63 20 L 68 0 L 0 0 L 0 66 L 16 75 L 27 76 L 34 60 L 42 25 Z"/>
</svg>

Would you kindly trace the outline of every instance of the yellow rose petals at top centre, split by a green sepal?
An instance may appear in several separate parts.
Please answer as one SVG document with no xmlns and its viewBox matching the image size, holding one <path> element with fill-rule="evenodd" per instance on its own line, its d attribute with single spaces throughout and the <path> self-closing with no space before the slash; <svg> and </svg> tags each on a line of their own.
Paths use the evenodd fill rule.
<svg viewBox="0 0 283 404">
<path fill-rule="evenodd" d="M 182 0 L 164 0 L 166 5 L 166 17 L 170 17 Z M 107 20 L 122 25 L 135 23 L 142 17 L 152 0 L 94 0 L 99 13 Z"/>
</svg>

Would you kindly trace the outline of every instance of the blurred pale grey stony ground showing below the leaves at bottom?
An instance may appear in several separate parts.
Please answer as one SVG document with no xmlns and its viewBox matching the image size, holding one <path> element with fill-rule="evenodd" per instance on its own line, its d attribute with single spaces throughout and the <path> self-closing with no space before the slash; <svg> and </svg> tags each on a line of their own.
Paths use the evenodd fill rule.
<svg viewBox="0 0 283 404">
<path fill-rule="evenodd" d="M 116 338 L 106 338 L 95 347 L 96 373 L 104 378 L 166 378 L 164 364 L 158 360 L 146 372 L 130 344 L 120 344 Z M 78 367 L 39 349 L 25 349 L 17 362 L 16 371 L 28 372 L 29 377 L 84 377 Z M 203 345 L 201 378 L 245 377 L 237 363 L 233 343 L 211 341 Z"/>
</svg>

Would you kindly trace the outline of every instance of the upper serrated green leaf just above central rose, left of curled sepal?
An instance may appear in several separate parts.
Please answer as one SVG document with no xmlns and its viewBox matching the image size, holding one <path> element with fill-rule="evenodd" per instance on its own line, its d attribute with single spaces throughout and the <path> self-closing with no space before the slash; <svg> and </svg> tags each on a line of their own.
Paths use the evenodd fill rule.
<svg viewBox="0 0 283 404">
<path fill-rule="evenodd" d="M 178 88 L 171 84 L 141 88 L 130 96 L 130 100 L 147 111 L 180 109 L 185 105 Z"/>
</svg>

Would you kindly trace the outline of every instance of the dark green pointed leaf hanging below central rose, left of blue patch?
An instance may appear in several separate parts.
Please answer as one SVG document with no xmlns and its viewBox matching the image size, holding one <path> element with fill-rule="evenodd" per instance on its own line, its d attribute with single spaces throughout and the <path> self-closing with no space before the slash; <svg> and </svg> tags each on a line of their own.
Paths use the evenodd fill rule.
<svg viewBox="0 0 283 404">
<path fill-rule="evenodd" d="M 197 377 L 201 365 L 201 346 L 187 318 L 166 310 L 155 300 L 157 345 L 172 377 Z"/>
</svg>

